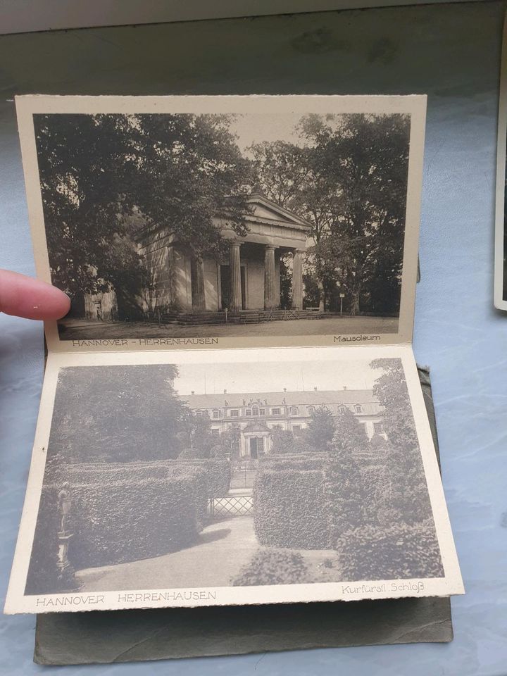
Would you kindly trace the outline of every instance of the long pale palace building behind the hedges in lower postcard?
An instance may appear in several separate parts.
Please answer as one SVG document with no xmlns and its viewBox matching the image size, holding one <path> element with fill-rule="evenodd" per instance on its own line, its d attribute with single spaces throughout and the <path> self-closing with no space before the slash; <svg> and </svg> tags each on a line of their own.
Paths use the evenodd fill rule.
<svg viewBox="0 0 507 676">
<path fill-rule="evenodd" d="M 241 430 L 242 457 L 256 459 L 269 453 L 273 430 L 301 434 L 315 408 L 327 406 L 337 416 L 345 408 L 364 425 L 368 438 L 385 437 L 382 406 L 370 389 L 323 390 L 310 392 L 256 392 L 255 394 L 187 394 L 180 395 L 196 415 L 207 413 L 211 432 L 221 434 L 230 427 Z"/>
</svg>

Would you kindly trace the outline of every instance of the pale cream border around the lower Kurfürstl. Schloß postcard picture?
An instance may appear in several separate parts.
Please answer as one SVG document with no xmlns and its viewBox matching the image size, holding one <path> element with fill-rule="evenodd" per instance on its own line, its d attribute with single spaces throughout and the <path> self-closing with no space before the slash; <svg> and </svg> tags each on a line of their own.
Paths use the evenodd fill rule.
<svg viewBox="0 0 507 676">
<path fill-rule="evenodd" d="M 406 375 L 408 394 L 413 408 L 415 428 L 418 434 L 421 456 L 430 495 L 435 530 L 442 556 L 444 577 L 421 580 L 375 580 L 360 582 L 326 582 L 313 584 L 287 584 L 262 587 L 220 587 L 203 589 L 140 589 L 120 592 L 73 592 L 69 594 L 39 594 L 25 596 L 25 584 L 30 563 L 30 553 L 35 535 L 39 499 L 42 492 L 46 449 L 48 445 L 51 418 L 56 392 L 58 369 L 65 366 L 114 365 L 114 364 L 156 364 L 156 363 L 269 363 L 280 361 L 364 361 L 377 358 L 401 358 Z M 396 584 L 399 589 L 393 590 Z M 382 589 L 385 585 L 385 589 Z M 422 587 L 421 587 L 422 585 Z M 407 588 L 411 587 L 411 588 Z M 162 599 L 153 599 L 160 592 Z M 187 598 L 183 592 L 190 594 Z M 195 592 L 196 594 L 191 594 Z M 178 594 L 171 599 L 170 594 Z M 403 596 L 449 596 L 463 594 L 463 581 L 459 570 L 456 548 L 453 542 L 449 515 L 446 508 L 444 489 L 440 477 L 437 456 L 434 451 L 430 423 L 428 422 L 423 393 L 420 389 L 418 371 L 411 346 L 377 346 L 375 348 L 294 348 L 285 350 L 235 350 L 235 351 L 181 351 L 179 353 L 50 353 L 46 365 L 46 377 L 37 421 L 37 432 L 32 452 L 32 463 L 23 507 L 23 516 L 15 549 L 11 580 L 4 612 L 44 613 L 56 611 L 117 610 L 120 608 L 158 608 L 170 606 L 222 606 L 260 603 L 296 603 L 306 601 L 353 601 L 359 599 L 400 598 Z M 142 594 L 132 599 L 132 594 Z M 151 594 L 152 600 L 146 598 Z M 103 599 L 96 599 L 96 596 Z M 73 601 L 80 597 L 88 601 Z M 166 597 L 168 596 L 168 597 Z M 198 596 L 196 598 L 195 596 Z M 41 599 L 43 599 L 41 601 Z M 46 599 L 46 601 L 44 601 Z M 61 601 L 56 601 L 61 599 Z M 66 599 L 66 600 L 65 600 Z"/>
</svg>

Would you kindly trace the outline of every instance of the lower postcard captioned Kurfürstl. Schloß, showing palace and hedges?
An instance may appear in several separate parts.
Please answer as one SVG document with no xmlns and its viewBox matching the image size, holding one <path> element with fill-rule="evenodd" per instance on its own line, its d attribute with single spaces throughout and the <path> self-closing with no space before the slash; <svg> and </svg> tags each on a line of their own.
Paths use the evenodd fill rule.
<svg viewBox="0 0 507 676">
<path fill-rule="evenodd" d="M 50 354 L 6 613 L 462 593 L 411 346 Z"/>
</svg>

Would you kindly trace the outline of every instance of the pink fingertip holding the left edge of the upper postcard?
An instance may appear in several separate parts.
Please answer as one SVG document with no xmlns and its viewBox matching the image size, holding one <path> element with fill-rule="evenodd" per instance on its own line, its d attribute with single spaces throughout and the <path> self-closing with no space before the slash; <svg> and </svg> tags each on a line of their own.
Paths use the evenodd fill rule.
<svg viewBox="0 0 507 676">
<path fill-rule="evenodd" d="M 63 291 L 33 277 L 0 270 L 0 312 L 26 319 L 60 319 L 70 309 Z"/>
</svg>

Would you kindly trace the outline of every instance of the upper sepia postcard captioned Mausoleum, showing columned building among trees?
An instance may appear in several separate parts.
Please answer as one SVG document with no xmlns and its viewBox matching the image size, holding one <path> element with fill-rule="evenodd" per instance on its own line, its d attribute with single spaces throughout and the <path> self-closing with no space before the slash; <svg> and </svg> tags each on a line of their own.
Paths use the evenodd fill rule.
<svg viewBox="0 0 507 676">
<path fill-rule="evenodd" d="M 50 350 L 410 342 L 425 96 L 20 96 Z"/>
</svg>

